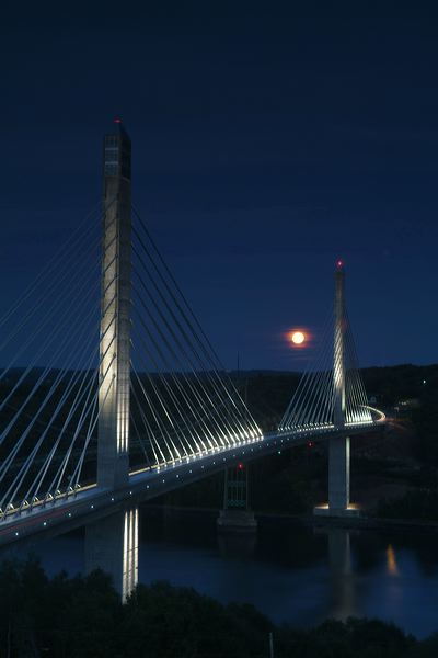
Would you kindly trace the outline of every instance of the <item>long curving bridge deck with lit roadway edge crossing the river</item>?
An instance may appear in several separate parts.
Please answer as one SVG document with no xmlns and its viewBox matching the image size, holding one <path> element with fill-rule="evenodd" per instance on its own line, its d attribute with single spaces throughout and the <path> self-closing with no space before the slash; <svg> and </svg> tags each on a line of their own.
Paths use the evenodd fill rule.
<svg viewBox="0 0 438 658">
<path fill-rule="evenodd" d="M 332 426 L 301 429 L 295 432 L 270 432 L 261 439 L 241 442 L 232 447 L 217 449 L 173 464 L 134 472 L 130 474 L 129 485 L 115 491 L 89 485 L 68 496 L 64 495 L 51 501 L 8 513 L 0 521 L 0 546 L 36 534 L 68 532 L 87 524 L 92 519 L 110 515 L 126 504 L 138 504 L 153 499 L 241 461 L 255 460 L 281 447 L 302 445 L 309 440 L 324 441 L 331 436 L 377 432 L 383 429 L 384 424 L 384 422 L 368 422 L 341 430 Z"/>
</svg>

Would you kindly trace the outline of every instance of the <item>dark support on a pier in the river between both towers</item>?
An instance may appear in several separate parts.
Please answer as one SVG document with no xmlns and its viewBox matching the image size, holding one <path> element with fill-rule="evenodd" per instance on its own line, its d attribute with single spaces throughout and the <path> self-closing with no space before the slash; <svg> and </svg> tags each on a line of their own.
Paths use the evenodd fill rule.
<svg viewBox="0 0 438 658">
<path fill-rule="evenodd" d="M 220 532 L 255 532 L 257 522 L 249 507 L 249 466 L 238 464 L 224 472 L 223 509 L 217 520 Z"/>
</svg>

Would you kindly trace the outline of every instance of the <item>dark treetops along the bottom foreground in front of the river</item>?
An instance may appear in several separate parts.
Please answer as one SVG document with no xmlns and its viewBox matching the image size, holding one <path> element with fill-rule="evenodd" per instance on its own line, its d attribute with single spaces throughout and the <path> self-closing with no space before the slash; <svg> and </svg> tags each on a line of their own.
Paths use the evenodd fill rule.
<svg viewBox="0 0 438 658">
<path fill-rule="evenodd" d="M 274 626 L 252 605 L 222 605 L 166 582 L 139 586 L 123 605 L 110 578 L 48 579 L 37 560 L 0 566 L 0 656 L 59 658 L 427 658 L 438 636 L 417 642 L 391 624 L 350 619 L 303 631 Z"/>
</svg>

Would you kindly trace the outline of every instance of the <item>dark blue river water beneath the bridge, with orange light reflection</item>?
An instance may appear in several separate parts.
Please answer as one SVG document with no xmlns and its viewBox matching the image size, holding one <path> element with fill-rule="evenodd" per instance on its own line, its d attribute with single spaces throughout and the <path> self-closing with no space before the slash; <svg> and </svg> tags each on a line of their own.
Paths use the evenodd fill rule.
<svg viewBox="0 0 438 658">
<path fill-rule="evenodd" d="M 140 510 L 138 579 L 252 603 L 277 623 L 350 615 L 392 621 L 422 638 L 438 629 L 438 536 L 314 529 L 260 519 L 255 536 L 220 537 L 216 513 Z M 84 533 L 38 543 L 46 571 L 84 572 Z"/>
</svg>

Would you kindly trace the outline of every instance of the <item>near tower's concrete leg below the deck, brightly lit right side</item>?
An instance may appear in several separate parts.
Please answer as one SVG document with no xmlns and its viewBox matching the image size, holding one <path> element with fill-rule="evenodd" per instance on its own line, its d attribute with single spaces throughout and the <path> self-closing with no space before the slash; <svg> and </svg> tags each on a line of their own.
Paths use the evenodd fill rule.
<svg viewBox="0 0 438 658">
<path fill-rule="evenodd" d="M 138 582 L 138 509 L 128 509 L 85 527 L 85 572 L 111 575 L 122 599 Z"/>
</svg>

